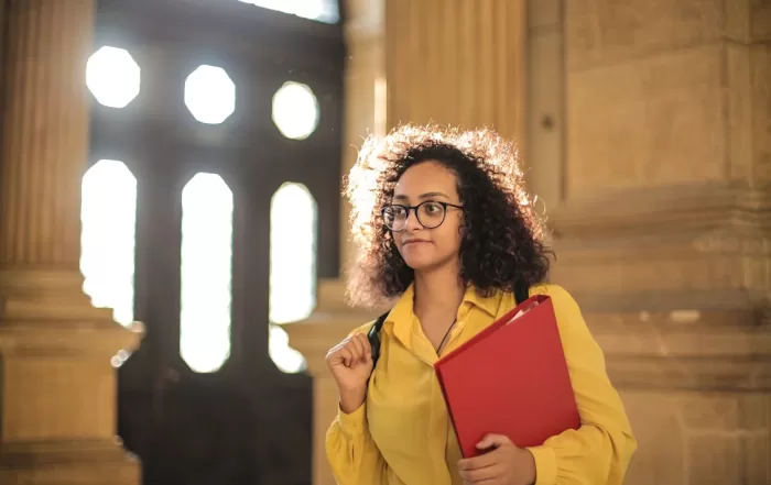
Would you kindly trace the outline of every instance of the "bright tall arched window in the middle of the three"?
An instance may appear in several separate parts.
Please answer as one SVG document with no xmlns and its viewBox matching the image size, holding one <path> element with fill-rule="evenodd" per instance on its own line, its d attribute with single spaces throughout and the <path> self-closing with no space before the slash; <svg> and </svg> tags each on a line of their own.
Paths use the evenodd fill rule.
<svg viewBox="0 0 771 485">
<path fill-rule="evenodd" d="M 180 353 L 195 372 L 230 356 L 232 192 L 215 174 L 196 174 L 182 190 Z"/>
</svg>

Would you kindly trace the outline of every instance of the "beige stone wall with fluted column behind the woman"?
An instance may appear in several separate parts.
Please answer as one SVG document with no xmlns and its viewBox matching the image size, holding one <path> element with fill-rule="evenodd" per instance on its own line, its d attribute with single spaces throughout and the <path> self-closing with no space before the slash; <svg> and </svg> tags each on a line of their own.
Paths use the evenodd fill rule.
<svg viewBox="0 0 771 485">
<path fill-rule="evenodd" d="M 553 280 L 582 304 L 640 441 L 627 483 L 771 483 L 768 2 L 350 3 L 352 25 L 384 23 L 349 37 L 377 57 L 349 66 L 347 143 L 376 125 L 383 74 L 389 125 L 520 139 L 554 230 Z M 327 484 L 323 355 L 369 316 L 345 309 L 339 282 L 322 293 L 290 333 L 317 376 Z"/>
</svg>

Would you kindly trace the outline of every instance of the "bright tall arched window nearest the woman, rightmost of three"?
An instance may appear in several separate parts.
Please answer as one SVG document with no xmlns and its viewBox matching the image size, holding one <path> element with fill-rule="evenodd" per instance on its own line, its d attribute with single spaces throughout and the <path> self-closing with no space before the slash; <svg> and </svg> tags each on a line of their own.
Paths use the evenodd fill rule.
<svg viewBox="0 0 771 485">
<path fill-rule="evenodd" d="M 303 184 L 286 183 L 271 199 L 270 355 L 284 372 L 304 368 L 282 323 L 307 318 L 316 306 L 316 201 Z"/>
</svg>

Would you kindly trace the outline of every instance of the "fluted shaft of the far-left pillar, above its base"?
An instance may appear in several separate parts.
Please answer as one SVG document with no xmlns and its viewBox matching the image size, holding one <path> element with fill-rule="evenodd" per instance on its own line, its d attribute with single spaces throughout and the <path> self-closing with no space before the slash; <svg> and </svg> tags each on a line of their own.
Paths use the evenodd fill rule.
<svg viewBox="0 0 771 485">
<path fill-rule="evenodd" d="M 77 269 L 94 2 L 7 8 L 0 265 Z"/>
</svg>

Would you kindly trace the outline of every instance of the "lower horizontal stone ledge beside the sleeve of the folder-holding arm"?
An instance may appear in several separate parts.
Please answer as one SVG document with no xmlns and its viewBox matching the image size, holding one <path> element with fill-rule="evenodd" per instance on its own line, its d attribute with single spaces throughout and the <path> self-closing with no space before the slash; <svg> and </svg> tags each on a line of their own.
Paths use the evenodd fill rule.
<svg viewBox="0 0 771 485">
<path fill-rule="evenodd" d="M 752 311 L 587 313 L 623 388 L 771 390 L 771 320 Z"/>
</svg>

